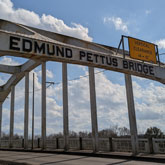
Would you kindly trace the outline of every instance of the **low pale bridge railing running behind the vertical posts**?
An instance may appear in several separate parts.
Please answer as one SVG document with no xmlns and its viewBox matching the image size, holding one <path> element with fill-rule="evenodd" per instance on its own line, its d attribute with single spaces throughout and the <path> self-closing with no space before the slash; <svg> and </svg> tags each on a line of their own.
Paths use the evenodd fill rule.
<svg viewBox="0 0 165 165">
<path fill-rule="evenodd" d="M 41 148 L 42 139 L 35 139 L 33 148 Z M 99 138 L 99 151 L 131 152 L 132 145 L 130 138 Z M 63 149 L 64 139 L 55 138 L 46 140 L 47 150 Z M 28 147 L 31 149 L 32 141 L 28 141 Z M 0 148 L 11 148 L 9 140 L 1 140 Z M 12 141 L 12 148 L 24 148 L 24 140 L 18 139 Z M 92 150 L 92 138 L 69 138 L 69 149 L 74 150 Z M 139 152 L 141 153 L 165 153 L 165 139 L 139 139 Z"/>
</svg>

